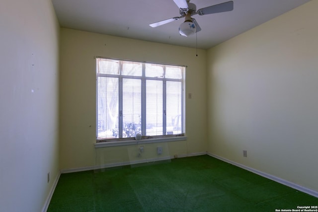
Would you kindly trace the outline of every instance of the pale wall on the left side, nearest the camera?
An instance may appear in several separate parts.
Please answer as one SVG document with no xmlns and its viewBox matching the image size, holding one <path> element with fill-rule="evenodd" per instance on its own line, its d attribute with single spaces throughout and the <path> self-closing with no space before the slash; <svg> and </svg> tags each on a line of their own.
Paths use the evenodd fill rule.
<svg viewBox="0 0 318 212">
<path fill-rule="evenodd" d="M 0 211 L 39 212 L 59 174 L 60 27 L 51 0 L 5 0 L 0 30 Z"/>
</svg>

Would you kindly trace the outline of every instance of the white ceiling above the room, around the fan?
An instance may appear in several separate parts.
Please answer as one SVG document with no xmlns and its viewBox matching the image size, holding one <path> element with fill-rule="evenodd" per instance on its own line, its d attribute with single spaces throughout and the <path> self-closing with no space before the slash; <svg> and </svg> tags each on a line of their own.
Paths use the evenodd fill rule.
<svg viewBox="0 0 318 212">
<path fill-rule="evenodd" d="M 228 0 L 191 0 L 197 9 Z M 179 16 L 173 0 L 52 0 L 61 27 L 119 37 L 208 49 L 310 0 L 234 0 L 230 12 L 195 15 L 202 31 L 184 37 L 183 19 L 152 28 L 149 24 Z M 197 39 L 197 41 L 196 41 Z"/>
</svg>

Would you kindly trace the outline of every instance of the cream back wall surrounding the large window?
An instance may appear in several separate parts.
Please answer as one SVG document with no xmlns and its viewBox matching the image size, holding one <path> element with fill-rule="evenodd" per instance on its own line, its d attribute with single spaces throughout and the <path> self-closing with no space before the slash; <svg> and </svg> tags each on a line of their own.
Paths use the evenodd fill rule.
<svg viewBox="0 0 318 212">
<path fill-rule="evenodd" d="M 61 29 L 60 45 L 60 168 L 72 169 L 157 157 L 156 144 L 95 149 L 95 56 L 187 65 L 187 141 L 161 143 L 169 155 L 206 151 L 206 51 L 151 43 L 77 30 Z M 166 148 L 166 150 L 165 150 Z M 152 152 L 152 153 L 149 153 Z M 146 156 L 148 155 L 148 156 Z"/>
</svg>

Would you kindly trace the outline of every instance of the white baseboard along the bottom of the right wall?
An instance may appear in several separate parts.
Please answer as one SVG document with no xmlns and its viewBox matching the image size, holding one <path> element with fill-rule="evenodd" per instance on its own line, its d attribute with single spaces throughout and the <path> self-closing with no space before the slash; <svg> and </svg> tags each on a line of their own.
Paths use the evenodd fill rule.
<svg viewBox="0 0 318 212">
<path fill-rule="evenodd" d="M 207 154 L 210 155 L 210 156 L 212 156 L 212 157 L 215 157 L 215 158 L 217 158 L 217 159 L 223 160 L 223 161 L 225 161 L 225 162 L 227 162 L 227 163 L 231 163 L 231 164 L 233 164 L 233 165 L 235 165 L 235 166 L 238 166 L 238 167 L 240 167 L 240 168 L 242 168 L 242 169 L 245 169 L 245 170 L 247 170 L 247 171 L 250 171 L 250 172 L 253 172 L 253 173 L 255 173 L 255 174 L 258 174 L 258 175 L 260 175 L 260 176 L 262 176 L 262 177 L 265 177 L 265 178 L 267 178 L 267 179 L 276 181 L 276 182 L 278 182 L 278 183 L 280 183 L 280 184 L 283 184 L 283 185 L 285 185 L 285 186 L 291 187 L 291 188 L 293 188 L 293 189 L 296 189 L 296 190 L 298 190 L 298 191 L 304 192 L 304 193 L 306 193 L 306 194 L 309 194 L 309 195 L 311 195 L 311 196 L 314 196 L 314 197 L 317 197 L 317 198 L 318 198 L 318 192 L 315 191 L 315 190 L 312 190 L 312 189 L 309 189 L 309 188 L 300 186 L 300 185 L 298 185 L 298 184 L 289 182 L 289 181 L 284 180 L 284 179 L 281 179 L 281 178 L 279 178 L 279 177 L 276 177 L 276 176 L 273 176 L 273 175 L 264 173 L 264 172 L 262 172 L 262 171 L 259 171 L 259 170 L 250 168 L 250 167 L 248 167 L 248 166 L 242 165 L 242 164 L 237 163 L 237 162 L 234 162 L 234 161 L 232 161 L 232 160 L 228 160 L 228 159 L 226 159 L 226 158 L 224 158 L 224 157 L 221 157 L 221 156 L 218 156 L 218 155 L 215 155 L 215 154 L 212 154 L 212 153 L 207 153 Z"/>
</svg>

